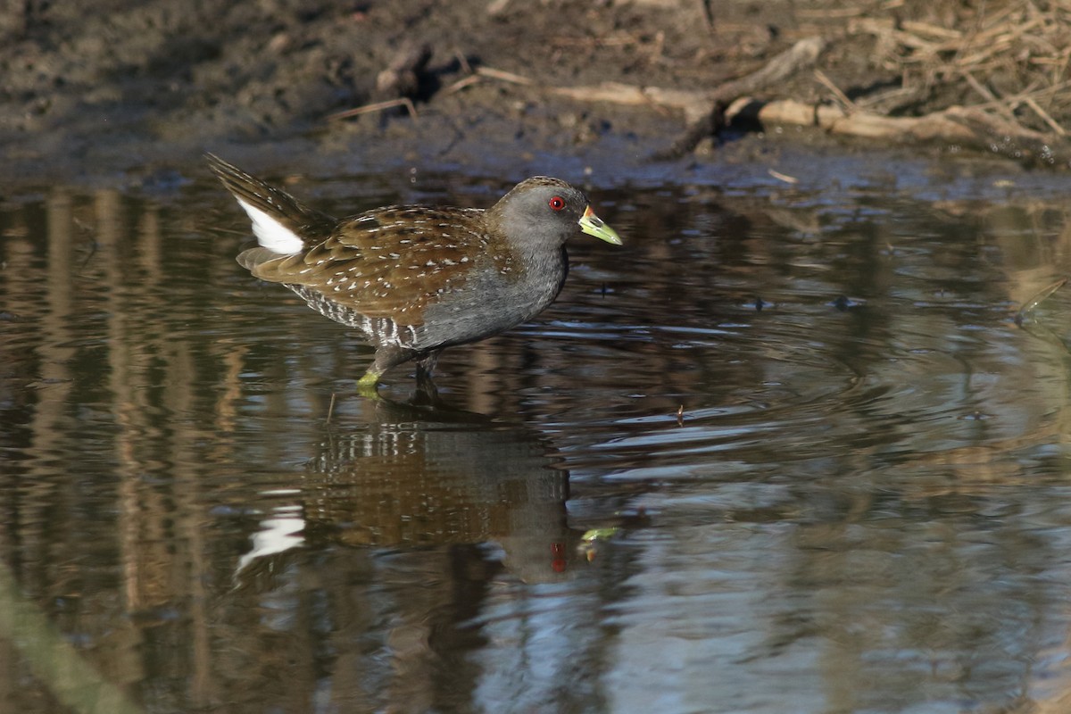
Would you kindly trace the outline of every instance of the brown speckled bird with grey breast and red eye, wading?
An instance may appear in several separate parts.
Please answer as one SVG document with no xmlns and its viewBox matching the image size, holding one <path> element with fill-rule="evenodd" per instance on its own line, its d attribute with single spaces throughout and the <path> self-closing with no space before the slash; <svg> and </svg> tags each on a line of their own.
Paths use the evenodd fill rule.
<svg viewBox="0 0 1071 714">
<path fill-rule="evenodd" d="M 416 361 L 431 381 L 448 347 L 485 339 L 539 315 L 569 271 L 565 241 L 622 245 L 584 192 L 537 176 L 488 209 L 387 206 L 335 218 L 206 154 L 252 222 L 257 246 L 238 262 L 280 283 L 375 347 L 358 380 L 375 394 L 392 367 Z"/>
</svg>

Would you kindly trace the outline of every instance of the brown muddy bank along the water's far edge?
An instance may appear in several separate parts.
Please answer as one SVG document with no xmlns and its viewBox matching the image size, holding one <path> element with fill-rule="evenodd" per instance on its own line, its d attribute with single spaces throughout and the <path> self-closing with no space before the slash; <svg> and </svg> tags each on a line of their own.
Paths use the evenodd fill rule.
<svg viewBox="0 0 1071 714">
<path fill-rule="evenodd" d="M 1015 0 L 977 7 L 945 0 L 102 0 L 91 9 L 6 0 L 0 181 L 9 195 L 51 181 L 167 185 L 201 170 L 207 150 L 256 170 L 349 173 L 413 163 L 491 174 L 549 154 L 628 174 L 690 124 L 696 138 L 719 134 L 699 145 L 700 156 L 746 161 L 764 149 L 740 137 L 763 126 L 715 125 L 722 115 L 704 116 L 707 98 L 808 39 L 821 46 L 813 66 L 749 87 L 754 98 L 847 113 L 878 107 L 904 118 L 978 105 L 1005 125 L 1036 132 L 1049 151 L 1044 137 L 1062 139 L 1071 106 L 1059 12 Z M 971 64 L 970 51 L 983 52 L 975 60 L 981 64 Z M 382 75 L 392 66 L 394 75 Z M 630 103 L 603 91 L 622 86 L 657 92 Z M 685 100 L 663 101 L 666 93 Z M 833 134 L 816 128 L 785 140 L 817 150 L 875 146 L 873 138 L 830 141 Z M 939 136 L 879 140 L 950 153 Z M 994 137 L 994 152 L 1000 140 Z M 1015 157 L 1015 147 L 1005 153 Z M 680 154 L 694 161 L 691 146 Z M 1044 158 L 1062 161 L 1058 152 Z"/>
</svg>

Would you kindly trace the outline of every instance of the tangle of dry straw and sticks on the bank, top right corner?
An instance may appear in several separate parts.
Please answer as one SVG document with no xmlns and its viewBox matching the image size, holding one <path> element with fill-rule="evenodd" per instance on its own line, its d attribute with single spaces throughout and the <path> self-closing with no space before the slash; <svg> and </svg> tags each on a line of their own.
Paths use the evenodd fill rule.
<svg viewBox="0 0 1071 714">
<path fill-rule="evenodd" d="M 840 86 L 835 64 L 827 72 L 802 63 L 818 86 L 817 102 L 740 95 L 719 121 L 760 125 L 813 125 L 834 134 L 996 153 L 1029 165 L 1067 169 L 1071 152 L 1071 3 L 1004 2 L 931 4 L 890 0 L 878 10 L 827 22 L 829 45 L 842 54 L 870 47 L 870 61 L 887 81 Z M 815 16 L 814 19 L 818 19 Z M 772 90 L 772 91 L 771 91 Z M 714 106 L 711 111 L 721 108 Z M 693 124 L 693 126 L 698 125 Z M 695 132 L 669 153 L 690 150 Z"/>
</svg>

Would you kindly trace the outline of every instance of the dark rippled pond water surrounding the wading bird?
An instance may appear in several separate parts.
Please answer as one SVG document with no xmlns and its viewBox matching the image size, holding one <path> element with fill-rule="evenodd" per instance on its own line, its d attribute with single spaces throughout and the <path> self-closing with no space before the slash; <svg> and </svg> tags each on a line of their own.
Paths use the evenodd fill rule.
<svg viewBox="0 0 1071 714">
<path fill-rule="evenodd" d="M 869 166 L 592 192 L 435 408 L 207 179 L 3 204 L 0 711 L 1071 711 L 1071 185 Z"/>
</svg>

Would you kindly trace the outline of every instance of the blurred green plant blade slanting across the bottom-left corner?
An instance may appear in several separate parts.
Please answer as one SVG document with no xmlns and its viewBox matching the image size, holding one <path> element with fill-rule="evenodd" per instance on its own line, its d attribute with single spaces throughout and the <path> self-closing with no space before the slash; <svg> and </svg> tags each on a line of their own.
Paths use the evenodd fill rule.
<svg viewBox="0 0 1071 714">
<path fill-rule="evenodd" d="M 3 563 L 0 639 L 13 643 L 33 675 L 76 714 L 142 714 L 141 708 L 82 659 L 44 612 L 19 595 L 15 577 Z"/>
</svg>

